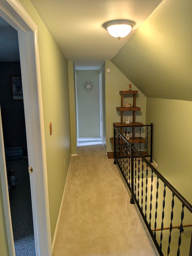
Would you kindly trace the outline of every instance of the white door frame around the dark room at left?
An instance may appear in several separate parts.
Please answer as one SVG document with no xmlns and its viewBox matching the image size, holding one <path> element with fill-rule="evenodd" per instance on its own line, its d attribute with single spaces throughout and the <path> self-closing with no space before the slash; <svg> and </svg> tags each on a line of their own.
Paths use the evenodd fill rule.
<svg viewBox="0 0 192 256">
<path fill-rule="evenodd" d="M 51 256 L 44 119 L 41 95 L 37 26 L 17 0 L 1 0 L 0 16 L 18 31 L 23 101 L 30 174 L 35 248 L 37 256 Z M 1 116 L 0 116 L 1 117 Z M 0 172 L 10 255 L 15 255 L 7 173 L 0 118 Z"/>
</svg>

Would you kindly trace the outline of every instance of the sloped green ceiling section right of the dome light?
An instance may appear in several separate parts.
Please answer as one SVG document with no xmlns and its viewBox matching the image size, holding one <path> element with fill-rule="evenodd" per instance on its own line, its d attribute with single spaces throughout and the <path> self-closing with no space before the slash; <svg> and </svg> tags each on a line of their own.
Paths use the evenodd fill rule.
<svg viewBox="0 0 192 256">
<path fill-rule="evenodd" d="M 164 0 L 111 60 L 146 97 L 192 101 L 191 13 Z"/>
</svg>

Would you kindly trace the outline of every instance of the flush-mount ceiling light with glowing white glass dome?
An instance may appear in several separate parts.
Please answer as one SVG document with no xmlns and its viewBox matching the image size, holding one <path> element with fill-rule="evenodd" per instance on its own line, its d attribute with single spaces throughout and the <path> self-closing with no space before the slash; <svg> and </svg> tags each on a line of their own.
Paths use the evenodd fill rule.
<svg viewBox="0 0 192 256">
<path fill-rule="evenodd" d="M 135 23 L 131 20 L 111 20 L 104 23 L 103 27 L 110 33 L 110 35 L 120 39 L 127 36 L 134 25 Z"/>
</svg>

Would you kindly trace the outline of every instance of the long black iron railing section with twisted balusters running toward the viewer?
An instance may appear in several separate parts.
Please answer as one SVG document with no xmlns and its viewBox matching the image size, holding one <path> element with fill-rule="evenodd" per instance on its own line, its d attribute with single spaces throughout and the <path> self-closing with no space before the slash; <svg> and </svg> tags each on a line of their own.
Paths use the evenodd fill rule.
<svg viewBox="0 0 192 256">
<path fill-rule="evenodd" d="M 114 126 L 114 164 L 131 191 L 159 255 L 192 255 L 192 205 Z"/>
</svg>

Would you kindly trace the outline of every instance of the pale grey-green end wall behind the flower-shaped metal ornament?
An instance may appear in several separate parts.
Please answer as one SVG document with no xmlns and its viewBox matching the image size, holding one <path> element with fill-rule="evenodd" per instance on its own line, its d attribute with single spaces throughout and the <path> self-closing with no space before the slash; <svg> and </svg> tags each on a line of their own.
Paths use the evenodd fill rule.
<svg viewBox="0 0 192 256">
<path fill-rule="evenodd" d="M 94 83 L 86 91 L 83 83 Z M 100 137 L 99 70 L 76 70 L 79 138 Z"/>
</svg>

